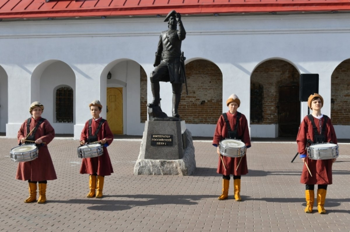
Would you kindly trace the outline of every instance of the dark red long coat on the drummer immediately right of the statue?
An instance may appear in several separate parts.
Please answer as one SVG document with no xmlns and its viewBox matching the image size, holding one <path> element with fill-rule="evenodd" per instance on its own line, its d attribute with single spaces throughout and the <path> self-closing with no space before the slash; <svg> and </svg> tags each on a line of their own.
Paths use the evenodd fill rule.
<svg viewBox="0 0 350 232">
<path fill-rule="evenodd" d="M 229 120 L 230 123 L 230 127 L 231 130 L 234 130 L 235 125 L 236 125 L 236 121 L 237 121 L 237 113 L 236 114 L 231 114 L 230 111 L 228 111 L 226 113 L 227 118 Z M 228 130 L 227 130 L 227 126 L 225 123 L 225 119 L 224 117 L 221 115 L 217 124 L 216 124 L 216 129 L 215 129 L 215 133 L 214 133 L 214 138 L 213 138 L 213 145 L 216 144 L 217 146 L 219 146 L 219 143 L 222 139 L 226 138 L 228 134 Z M 244 116 L 244 114 L 241 114 L 241 117 L 239 119 L 239 125 L 237 128 L 237 135 L 238 136 L 242 136 L 242 140 L 244 142 L 244 144 L 246 145 L 246 147 L 250 147 L 250 136 L 249 136 L 249 130 L 248 130 L 248 122 L 247 122 L 247 118 Z M 218 168 L 217 168 L 217 173 L 219 174 L 223 174 L 223 175 L 236 175 L 236 176 L 240 176 L 240 175 L 245 175 L 248 173 L 248 166 L 247 166 L 247 156 L 244 155 L 242 157 L 242 160 L 240 161 L 240 164 L 238 166 L 238 169 L 236 171 L 237 165 L 239 163 L 239 160 L 241 159 L 241 157 L 227 157 L 227 156 L 222 156 L 225 166 L 226 166 L 226 170 L 224 165 L 222 164 L 221 158 L 219 157 L 219 161 L 218 161 Z"/>
</svg>

